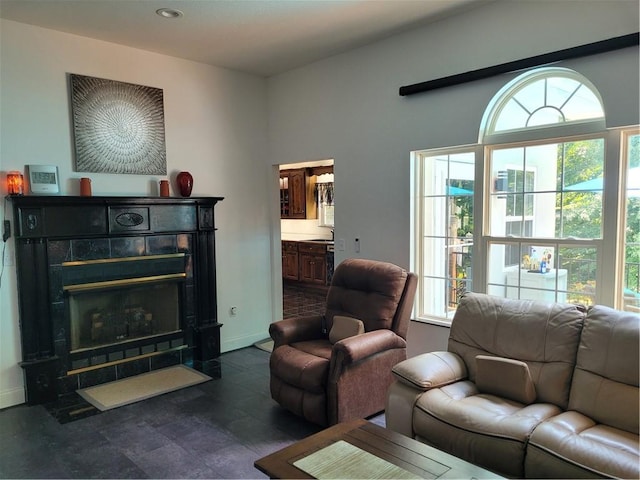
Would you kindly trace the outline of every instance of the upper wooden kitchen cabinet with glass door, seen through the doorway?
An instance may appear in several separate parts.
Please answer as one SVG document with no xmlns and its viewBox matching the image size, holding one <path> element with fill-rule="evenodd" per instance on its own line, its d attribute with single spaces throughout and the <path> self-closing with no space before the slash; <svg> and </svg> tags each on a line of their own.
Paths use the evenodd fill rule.
<svg viewBox="0 0 640 480">
<path fill-rule="evenodd" d="M 315 178 L 307 168 L 280 171 L 280 218 L 317 218 Z"/>
</svg>

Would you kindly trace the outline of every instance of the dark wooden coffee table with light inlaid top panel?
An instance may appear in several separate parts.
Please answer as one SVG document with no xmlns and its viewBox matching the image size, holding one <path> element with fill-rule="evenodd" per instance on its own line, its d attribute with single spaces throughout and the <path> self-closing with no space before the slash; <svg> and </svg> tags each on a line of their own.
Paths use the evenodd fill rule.
<svg viewBox="0 0 640 480">
<path fill-rule="evenodd" d="M 349 445 L 344 445 L 341 441 Z M 336 454 L 336 451 L 339 450 L 335 450 L 340 445 L 348 447 L 349 451 L 358 451 L 357 453 L 361 454 L 362 464 L 359 465 L 358 461 L 354 461 L 353 458 L 350 458 L 350 461 L 342 462 L 340 455 Z M 327 447 L 329 449 L 325 450 Z M 397 470 L 396 473 L 404 474 L 405 478 L 408 476 L 416 478 L 502 478 L 489 470 L 449 455 L 437 448 L 362 419 L 329 427 L 256 460 L 254 466 L 271 478 L 323 478 L 322 475 L 314 477 L 308 473 L 313 469 L 307 468 L 307 466 L 310 459 L 317 458 L 318 455 L 330 450 L 333 458 L 330 463 L 333 465 L 333 470 L 328 472 L 327 477 L 333 478 L 340 476 L 342 478 L 363 478 L 362 475 L 358 476 L 358 468 L 361 467 L 362 471 L 366 472 L 367 468 L 371 468 L 372 460 L 380 462 L 383 467 L 385 464 L 390 468 L 397 469 L 399 467 L 400 470 Z M 316 452 L 319 454 L 314 456 Z M 370 454 L 377 458 L 374 459 Z M 343 464 L 344 468 L 348 468 L 348 471 L 343 472 L 342 475 L 339 467 Z M 298 468 L 300 466 L 306 468 L 306 471 Z"/>
</svg>

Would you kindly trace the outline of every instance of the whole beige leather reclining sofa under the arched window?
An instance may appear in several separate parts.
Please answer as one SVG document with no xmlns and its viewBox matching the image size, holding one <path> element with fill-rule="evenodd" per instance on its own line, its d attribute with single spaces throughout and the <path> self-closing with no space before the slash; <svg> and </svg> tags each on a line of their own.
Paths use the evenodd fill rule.
<svg viewBox="0 0 640 480">
<path fill-rule="evenodd" d="M 466 294 L 397 364 L 387 428 L 500 475 L 640 478 L 640 316 Z"/>
</svg>

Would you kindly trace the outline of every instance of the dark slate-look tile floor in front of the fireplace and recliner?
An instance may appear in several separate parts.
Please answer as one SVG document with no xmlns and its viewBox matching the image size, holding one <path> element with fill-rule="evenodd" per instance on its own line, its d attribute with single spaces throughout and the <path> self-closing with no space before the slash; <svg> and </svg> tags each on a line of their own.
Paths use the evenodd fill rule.
<svg viewBox="0 0 640 480">
<path fill-rule="evenodd" d="M 224 353 L 220 379 L 65 424 L 43 406 L 4 409 L 0 478 L 265 478 L 256 459 L 320 430 L 271 399 L 268 361 Z"/>
</svg>

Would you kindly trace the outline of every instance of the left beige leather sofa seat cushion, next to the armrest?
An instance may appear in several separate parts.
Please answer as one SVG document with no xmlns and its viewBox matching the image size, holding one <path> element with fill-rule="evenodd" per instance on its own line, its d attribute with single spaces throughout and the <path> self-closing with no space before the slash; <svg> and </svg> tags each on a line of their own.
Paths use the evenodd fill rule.
<svg viewBox="0 0 640 480">
<path fill-rule="evenodd" d="M 416 402 L 415 438 L 507 477 L 524 476 L 527 440 L 560 413 L 552 404 L 523 405 L 462 381 L 429 390 Z"/>
</svg>

